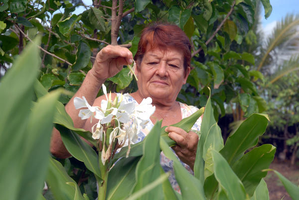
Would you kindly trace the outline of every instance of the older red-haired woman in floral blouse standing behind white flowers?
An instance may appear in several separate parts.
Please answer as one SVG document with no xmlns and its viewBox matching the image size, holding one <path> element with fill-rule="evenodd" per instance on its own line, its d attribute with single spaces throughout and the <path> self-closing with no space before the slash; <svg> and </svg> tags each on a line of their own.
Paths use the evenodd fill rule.
<svg viewBox="0 0 299 200">
<path fill-rule="evenodd" d="M 183 165 L 189 171 L 193 170 L 198 135 L 193 131 L 187 133 L 179 127 L 169 126 L 197 110 L 194 106 L 176 101 L 190 73 L 191 45 L 188 37 L 176 25 L 161 23 L 150 25 L 141 35 L 135 60 L 138 91 L 130 94 L 129 98 L 141 103 L 143 99 L 150 97 L 155 106 L 155 112 L 150 117 L 152 123 L 148 124 L 146 130 L 139 133 L 140 140 L 148 134 L 156 120 L 163 119 L 162 126 L 168 126 L 165 130 L 168 136 L 176 142 L 173 150 Z M 73 98 L 84 96 L 89 104 L 100 106 L 101 100 L 106 99 L 105 96 L 96 97 L 102 84 L 109 77 L 116 75 L 123 65 L 132 63 L 133 55 L 127 48 L 106 46 L 97 54 L 93 68 L 87 73 Z M 112 94 L 112 99 L 116 95 Z M 78 116 L 79 110 L 75 109 L 73 98 L 65 106 L 66 111 L 72 117 L 75 127 L 91 130 L 93 124 L 90 120 L 82 120 Z M 200 122 L 201 119 L 197 120 L 193 129 L 199 130 Z M 57 130 L 53 131 L 51 152 L 60 158 L 70 156 Z M 173 171 L 172 162 L 163 154 L 161 154 L 160 163 L 165 171 Z M 173 173 L 170 176 L 170 182 L 173 188 L 179 191 Z"/>
</svg>

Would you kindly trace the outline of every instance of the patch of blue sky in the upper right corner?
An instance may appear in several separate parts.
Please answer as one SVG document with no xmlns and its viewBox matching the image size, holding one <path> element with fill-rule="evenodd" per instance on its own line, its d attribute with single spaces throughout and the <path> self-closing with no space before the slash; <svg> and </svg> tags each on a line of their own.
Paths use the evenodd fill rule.
<svg viewBox="0 0 299 200">
<path fill-rule="evenodd" d="M 262 12 L 262 25 L 264 32 L 270 34 L 277 21 L 285 17 L 287 13 L 299 14 L 299 0 L 270 0 L 272 5 L 271 15 L 265 19 Z"/>
</svg>

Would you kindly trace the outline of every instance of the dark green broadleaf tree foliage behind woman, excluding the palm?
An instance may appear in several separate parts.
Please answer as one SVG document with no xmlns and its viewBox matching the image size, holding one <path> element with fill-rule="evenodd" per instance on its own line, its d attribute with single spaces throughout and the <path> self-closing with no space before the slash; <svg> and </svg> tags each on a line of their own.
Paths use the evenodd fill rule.
<svg viewBox="0 0 299 200">
<path fill-rule="evenodd" d="M 262 3 L 268 17 L 271 4 Z M 241 104 L 242 116 L 249 116 L 265 109 L 251 82 L 261 76 L 248 67 L 254 65 L 254 56 L 236 47 L 250 41 L 248 34 L 255 35 L 250 30 L 258 6 L 256 0 L 94 0 L 93 5 L 5 0 L 0 7 L 0 64 L 7 70 L 28 41 L 41 34 L 40 82 L 49 91 L 63 87 L 75 92 L 101 48 L 123 45 L 135 53 L 145 25 L 168 21 L 184 30 L 192 43 L 194 69 L 178 100 L 204 106 L 210 87 L 216 118 L 230 102 Z M 127 73 L 124 68 L 107 81 L 112 92 L 137 89 Z M 69 99 L 64 95 L 60 101 Z"/>
</svg>

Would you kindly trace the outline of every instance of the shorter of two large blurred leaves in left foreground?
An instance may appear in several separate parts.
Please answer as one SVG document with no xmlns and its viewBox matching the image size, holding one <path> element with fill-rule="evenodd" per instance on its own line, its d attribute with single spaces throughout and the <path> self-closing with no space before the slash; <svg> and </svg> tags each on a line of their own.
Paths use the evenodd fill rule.
<svg viewBox="0 0 299 200">
<path fill-rule="evenodd" d="M 28 126 L 25 130 L 26 139 L 22 149 L 22 172 L 19 199 L 36 199 L 44 184 L 49 164 L 50 138 L 53 129 L 55 104 L 60 91 L 54 91 L 38 99 L 29 114 Z M 34 175 L 34 179 L 32 176 Z M 24 187 L 26 186 L 26 187 Z"/>
</svg>

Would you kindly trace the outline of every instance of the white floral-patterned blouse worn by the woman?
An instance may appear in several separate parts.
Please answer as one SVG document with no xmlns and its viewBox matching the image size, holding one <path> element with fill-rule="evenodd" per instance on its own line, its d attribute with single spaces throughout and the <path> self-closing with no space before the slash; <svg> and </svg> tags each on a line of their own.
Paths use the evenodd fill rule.
<svg viewBox="0 0 299 200">
<path fill-rule="evenodd" d="M 121 94 L 117 94 L 119 97 Z M 126 98 L 126 100 L 128 102 L 131 102 L 131 101 L 135 101 L 136 104 L 138 104 L 138 102 L 129 94 L 125 94 L 123 95 L 124 98 Z M 188 116 L 190 116 L 191 114 L 193 114 L 195 111 L 198 110 L 197 107 L 195 106 L 192 106 L 192 105 L 186 105 L 185 103 L 181 103 L 179 102 L 179 105 L 180 105 L 180 108 L 181 108 L 181 117 L 182 119 L 183 118 L 186 118 Z M 199 117 L 197 119 L 197 121 L 195 122 L 195 124 L 192 126 L 192 130 L 195 130 L 195 131 L 200 131 L 200 124 L 201 124 L 201 120 L 202 120 L 202 116 Z M 138 143 L 140 141 L 142 141 L 148 134 L 149 134 L 149 131 L 151 130 L 151 128 L 153 127 L 153 123 L 151 121 L 149 121 L 149 123 L 147 123 L 147 126 L 146 128 L 142 129 L 140 132 L 137 133 L 137 136 L 138 136 L 138 139 L 135 143 Z M 126 145 L 126 144 L 125 144 Z M 127 144 L 128 145 L 128 144 Z M 172 149 L 171 149 L 172 150 Z M 173 151 L 173 150 L 172 150 Z M 173 151 L 174 152 L 174 151 Z M 176 155 L 176 154 L 175 154 Z M 193 171 L 191 170 L 191 168 L 183 163 L 182 161 L 180 161 L 181 164 L 192 174 L 194 175 Z M 162 166 L 163 170 L 165 172 L 169 172 L 170 171 L 170 176 L 169 176 L 169 182 L 172 186 L 172 188 L 177 191 L 178 193 L 180 193 L 180 188 L 175 180 L 175 176 L 174 176 L 174 170 L 173 170 L 173 164 L 172 164 L 172 160 L 169 160 L 164 154 L 163 152 L 161 152 L 161 155 L 160 155 L 160 165 Z"/>
</svg>

